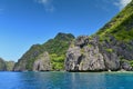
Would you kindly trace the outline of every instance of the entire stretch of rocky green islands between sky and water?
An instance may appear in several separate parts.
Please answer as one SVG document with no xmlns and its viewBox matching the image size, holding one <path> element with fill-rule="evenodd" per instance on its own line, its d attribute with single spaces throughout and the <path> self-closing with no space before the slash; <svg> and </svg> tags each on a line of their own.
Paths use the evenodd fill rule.
<svg viewBox="0 0 133 89">
<path fill-rule="evenodd" d="M 92 36 L 60 32 L 33 44 L 16 65 L 2 59 L 0 63 L 1 71 L 132 71 L 133 0 Z"/>
</svg>

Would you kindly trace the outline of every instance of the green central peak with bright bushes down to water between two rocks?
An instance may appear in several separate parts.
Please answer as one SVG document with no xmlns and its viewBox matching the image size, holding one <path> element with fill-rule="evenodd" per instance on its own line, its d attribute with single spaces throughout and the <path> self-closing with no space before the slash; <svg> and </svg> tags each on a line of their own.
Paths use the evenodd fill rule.
<svg viewBox="0 0 133 89">
<path fill-rule="evenodd" d="M 49 40 L 43 46 L 43 49 L 51 56 L 51 62 L 53 70 L 64 69 L 65 52 L 74 39 L 71 33 L 58 33 L 54 39 Z"/>
</svg>

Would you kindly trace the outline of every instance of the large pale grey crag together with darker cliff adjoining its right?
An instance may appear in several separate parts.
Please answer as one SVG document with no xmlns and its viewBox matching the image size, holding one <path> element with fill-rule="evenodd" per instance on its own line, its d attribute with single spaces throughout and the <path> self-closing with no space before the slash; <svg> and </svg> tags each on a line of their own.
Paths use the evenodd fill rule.
<svg viewBox="0 0 133 89">
<path fill-rule="evenodd" d="M 65 70 L 119 70 L 120 58 L 114 49 L 108 43 L 100 42 L 99 37 L 79 37 L 66 52 Z"/>
</svg>

